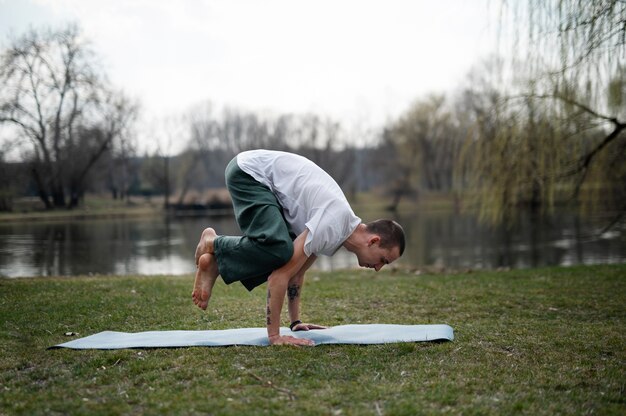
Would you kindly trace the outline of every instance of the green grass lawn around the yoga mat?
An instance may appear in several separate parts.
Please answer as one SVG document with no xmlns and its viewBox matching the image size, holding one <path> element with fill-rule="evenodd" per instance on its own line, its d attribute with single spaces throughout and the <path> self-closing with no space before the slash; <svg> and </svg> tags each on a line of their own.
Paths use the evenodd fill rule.
<svg viewBox="0 0 626 416">
<path fill-rule="evenodd" d="M 191 276 L 0 280 L 0 414 L 626 413 L 626 265 L 312 272 L 303 318 L 447 323 L 447 343 L 46 350 L 103 330 L 261 326 L 265 293 Z"/>
</svg>

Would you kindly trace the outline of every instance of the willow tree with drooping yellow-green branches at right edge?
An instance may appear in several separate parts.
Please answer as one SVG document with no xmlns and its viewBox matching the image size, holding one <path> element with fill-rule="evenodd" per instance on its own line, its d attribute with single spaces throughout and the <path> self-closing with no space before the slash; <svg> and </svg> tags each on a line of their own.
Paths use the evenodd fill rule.
<svg viewBox="0 0 626 416">
<path fill-rule="evenodd" d="M 478 134 L 465 149 L 481 211 L 498 221 L 520 204 L 546 212 L 575 200 L 623 216 L 626 2 L 501 0 L 496 7 L 509 65 L 498 73 L 498 99 L 476 113 Z"/>
</svg>

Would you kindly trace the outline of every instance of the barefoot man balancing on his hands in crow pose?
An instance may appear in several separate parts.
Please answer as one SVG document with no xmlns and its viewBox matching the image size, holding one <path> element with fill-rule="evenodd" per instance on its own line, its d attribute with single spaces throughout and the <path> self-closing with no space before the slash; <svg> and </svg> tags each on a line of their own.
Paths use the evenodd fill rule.
<svg viewBox="0 0 626 416">
<path fill-rule="evenodd" d="M 207 228 L 196 248 L 194 303 L 206 309 L 218 276 L 248 290 L 266 281 L 270 344 L 313 345 L 280 335 L 281 309 L 288 297 L 292 331 L 325 327 L 300 321 L 304 273 L 318 255 L 340 246 L 359 266 L 379 271 L 404 252 L 404 231 L 391 220 L 361 222 L 341 188 L 310 160 L 292 153 L 251 150 L 226 167 L 226 186 L 242 236 L 217 235 Z"/>
</svg>

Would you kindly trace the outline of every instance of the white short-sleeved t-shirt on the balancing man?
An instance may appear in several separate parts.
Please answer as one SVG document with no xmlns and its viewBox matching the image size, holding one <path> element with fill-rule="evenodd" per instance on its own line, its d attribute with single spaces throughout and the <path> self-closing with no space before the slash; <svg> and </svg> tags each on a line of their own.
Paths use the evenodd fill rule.
<svg viewBox="0 0 626 416">
<path fill-rule="evenodd" d="M 307 257 L 332 256 L 361 223 L 337 182 L 305 157 L 250 150 L 237 155 L 237 164 L 276 195 L 294 233 L 309 230 Z"/>
</svg>

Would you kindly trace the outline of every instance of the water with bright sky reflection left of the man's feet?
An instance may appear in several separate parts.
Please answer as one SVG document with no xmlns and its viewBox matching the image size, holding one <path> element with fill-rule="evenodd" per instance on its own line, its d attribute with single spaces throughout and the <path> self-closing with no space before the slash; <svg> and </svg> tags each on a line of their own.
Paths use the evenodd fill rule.
<svg viewBox="0 0 626 416">
<path fill-rule="evenodd" d="M 230 219 L 212 219 L 236 233 Z M 185 274 L 201 221 L 94 220 L 0 226 L 0 275 Z"/>
</svg>

